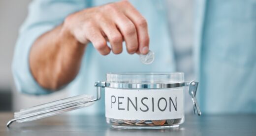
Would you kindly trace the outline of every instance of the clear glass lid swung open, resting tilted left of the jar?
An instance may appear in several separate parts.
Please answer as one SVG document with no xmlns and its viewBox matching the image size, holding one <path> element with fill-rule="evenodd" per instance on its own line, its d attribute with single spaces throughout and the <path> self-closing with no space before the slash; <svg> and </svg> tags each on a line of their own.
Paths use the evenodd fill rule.
<svg viewBox="0 0 256 136">
<path fill-rule="evenodd" d="M 93 96 L 83 94 L 37 105 L 31 108 L 21 109 L 19 112 L 14 113 L 14 119 L 10 120 L 7 123 L 7 126 L 13 121 L 19 123 L 27 122 L 87 107 L 92 105 L 94 101 L 96 101 L 96 99 L 94 99 Z"/>
</svg>

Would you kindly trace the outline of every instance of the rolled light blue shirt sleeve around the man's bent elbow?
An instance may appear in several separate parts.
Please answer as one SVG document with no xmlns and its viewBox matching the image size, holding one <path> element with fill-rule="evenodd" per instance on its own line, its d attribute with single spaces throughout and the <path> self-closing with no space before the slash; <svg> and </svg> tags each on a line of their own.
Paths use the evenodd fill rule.
<svg viewBox="0 0 256 136">
<path fill-rule="evenodd" d="M 29 65 L 31 46 L 40 35 L 61 24 L 67 15 L 88 5 L 88 0 L 33 0 L 30 3 L 12 61 L 12 73 L 18 91 L 35 95 L 52 92 L 40 87 L 32 76 Z"/>
</svg>

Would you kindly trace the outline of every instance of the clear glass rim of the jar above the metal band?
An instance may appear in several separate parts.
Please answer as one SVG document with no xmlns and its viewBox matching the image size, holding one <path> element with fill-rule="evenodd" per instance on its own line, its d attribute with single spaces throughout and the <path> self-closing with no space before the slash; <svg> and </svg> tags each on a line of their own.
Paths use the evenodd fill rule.
<svg viewBox="0 0 256 136">
<path fill-rule="evenodd" d="M 127 84 L 166 84 L 184 82 L 183 72 L 121 72 L 107 73 L 106 82 Z"/>
</svg>

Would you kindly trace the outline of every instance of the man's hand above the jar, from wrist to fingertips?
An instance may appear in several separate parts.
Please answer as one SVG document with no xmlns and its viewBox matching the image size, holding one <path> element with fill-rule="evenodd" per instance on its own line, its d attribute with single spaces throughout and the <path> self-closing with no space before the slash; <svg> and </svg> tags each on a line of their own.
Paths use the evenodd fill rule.
<svg viewBox="0 0 256 136">
<path fill-rule="evenodd" d="M 147 22 L 127 0 L 71 14 L 65 19 L 63 29 L 83 45 L 92 42 L 102 55 L 109 54 L 110 50 L 120 54 L 123 41 L 130 54 L 149 51 Z"/>
</svg>

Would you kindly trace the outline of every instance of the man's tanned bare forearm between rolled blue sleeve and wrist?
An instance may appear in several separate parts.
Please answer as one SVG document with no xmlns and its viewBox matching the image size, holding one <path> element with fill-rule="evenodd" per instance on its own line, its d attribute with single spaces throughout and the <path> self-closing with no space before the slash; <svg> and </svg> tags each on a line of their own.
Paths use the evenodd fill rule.
<svg viewBox="0 0 256 136">
<path fill-rule="evenodd" d="M 40 86 L 56 90 L 77 75 L 85 45 L 79 43 L 63 25 L 40 36 L 30 51 L 32 75 Z"/>
</svg>

